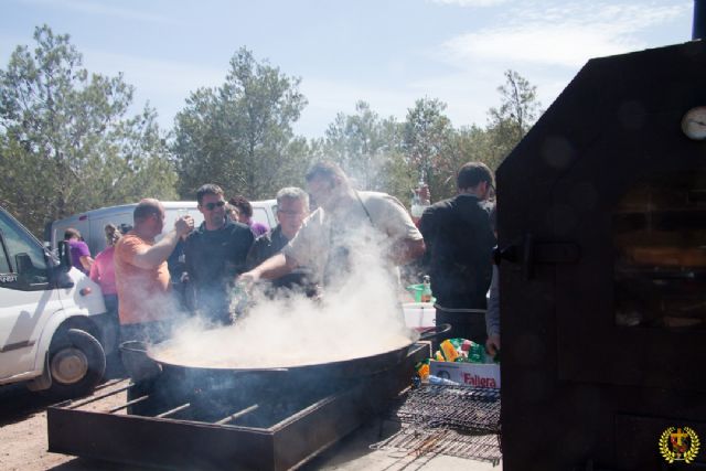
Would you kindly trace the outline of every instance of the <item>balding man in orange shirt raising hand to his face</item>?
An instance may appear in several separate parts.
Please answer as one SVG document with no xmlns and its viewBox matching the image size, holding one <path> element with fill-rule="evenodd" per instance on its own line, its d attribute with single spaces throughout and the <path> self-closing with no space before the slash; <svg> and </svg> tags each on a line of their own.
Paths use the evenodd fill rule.
<svg viewBox="0 0 706 471">
<path fill-rule="evenodd" d="M 174 229 L 159 243 L 154 238 L 164 227 L 164 207 L 158 200 L 146 199 L 135 207 L 135 227 L 115 246 L 115 277 L 118 291 L 120 338 L 159 342 L 178 312 L 170 296 L 167 258 L 180 237 L 194 227 L 191 216 L 174 223 Z"/>
</svg>

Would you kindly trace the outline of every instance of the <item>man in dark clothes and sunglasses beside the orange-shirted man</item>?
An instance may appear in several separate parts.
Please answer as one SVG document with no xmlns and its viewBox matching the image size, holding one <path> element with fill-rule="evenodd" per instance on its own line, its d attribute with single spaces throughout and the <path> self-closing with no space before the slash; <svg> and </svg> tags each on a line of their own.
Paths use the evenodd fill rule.
<svg viewBox="0 0 706 471">
<path fill-rule="evenodd" d="M 186 275 L 194 295 L 191 308 L 210 323 L 227 324 L 232 322 L 229 282 L 245 271 L 245 258 L 255 237 L 248 226 L 227 217 L 221 186 L 202 185 L 196 201 L 204 222 L 184 245 Z"/>
</svg>

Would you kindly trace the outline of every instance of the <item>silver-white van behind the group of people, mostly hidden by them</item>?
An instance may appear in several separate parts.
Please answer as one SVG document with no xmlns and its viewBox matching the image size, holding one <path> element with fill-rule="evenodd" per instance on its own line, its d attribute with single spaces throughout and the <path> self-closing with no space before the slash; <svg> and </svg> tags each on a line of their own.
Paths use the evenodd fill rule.
<svg viewBox="0 0 706 471">
<path fill-rule="evenodd" d="M 275 227 L 277 224 L 275 218 L 277 200 L 254 201 L 250 204 L 253 205 L 253 221 L 265 224 L 267 227 Z M 196 208 L 195 201 L 162 201 L 162 205 L 165 213 L 164 232 L 171 231 L 176 218 L 183 214 L 192 216 L 196 227 L 203 222 L 203 215 Z M 58 242 L 64 238 L 64 231 L 73 227 L 81 232 L 88 244 L 90 254 L 95 257 L 106 247 L 104 233 L 106 224 L 115 224 L 118 227 L 120 225 L 132 226 L 135 206 L 137 203 L 101 207 L 54 221 L 47 225 L 45 239 L 50 243 L 52 250 L 56 250 Z"/>
</svg>

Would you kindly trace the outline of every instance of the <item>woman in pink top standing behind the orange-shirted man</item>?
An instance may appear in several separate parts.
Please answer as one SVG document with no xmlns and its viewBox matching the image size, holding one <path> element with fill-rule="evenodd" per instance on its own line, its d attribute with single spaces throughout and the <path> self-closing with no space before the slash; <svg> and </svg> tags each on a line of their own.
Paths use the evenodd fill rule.
<svg viewBox="0 0 706 471">
<path fill-rule="evenodd" d="M 96 256 L 90 266 L 90 279 L 100 286 L 103 299 L 106 302 L 104 347 L 106 353 L 111 353 L 117 346 L 118 335 L 118 291 L 115 287 L 115 265 L 113 264 L 113 253 L 115 244 L 120 239 L 120 231 L 113 224 L 105 226 L 106 242 L 108 247 Z"/>
</svg>

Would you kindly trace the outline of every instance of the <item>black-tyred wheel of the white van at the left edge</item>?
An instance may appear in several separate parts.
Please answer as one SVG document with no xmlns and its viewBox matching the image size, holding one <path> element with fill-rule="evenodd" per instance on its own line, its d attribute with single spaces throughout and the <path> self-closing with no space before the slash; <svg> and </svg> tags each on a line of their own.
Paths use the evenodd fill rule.
<svg viewBox="0 0 706 471">
<path fill-rule="evenodd" d="M 106 371 L 100 342 L 88 332 L 69 329 L 52 340 L 49 358 L 53 396 L 69 398 L 90 394 Z"/>
</svg>

